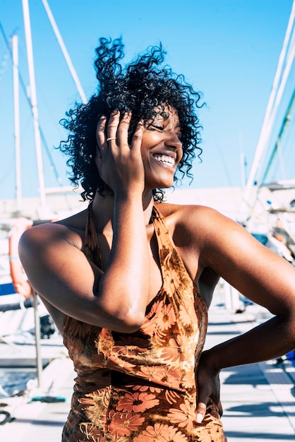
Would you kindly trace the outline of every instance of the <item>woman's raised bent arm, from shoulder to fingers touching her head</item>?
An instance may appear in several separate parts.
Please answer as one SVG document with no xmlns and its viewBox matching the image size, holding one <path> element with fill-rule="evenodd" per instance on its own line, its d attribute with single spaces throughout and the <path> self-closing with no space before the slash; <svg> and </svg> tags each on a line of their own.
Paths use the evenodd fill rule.
<svg viewBox="0 0 295 442">
<path fill-rule="evenodd" d="M 114 151 L 102 133 L 103 179 L 114 191 L 113 241 L 104 273 L 81 251 L 78 234 L 61 224 L 28 229 L 20 240 L 20 259 L 32 287 L 56 309 L 93 325 L 130 333 L 145 320 L 150 271 L 143 212 L 142 128 L 127 143 L 130 116 L 114 113 L 107 136 L 116 136 Z M 113 132 L 112 132 L 113 131 Z M 101 165 L 100 165 L 101 167 Z"/>
</svg>

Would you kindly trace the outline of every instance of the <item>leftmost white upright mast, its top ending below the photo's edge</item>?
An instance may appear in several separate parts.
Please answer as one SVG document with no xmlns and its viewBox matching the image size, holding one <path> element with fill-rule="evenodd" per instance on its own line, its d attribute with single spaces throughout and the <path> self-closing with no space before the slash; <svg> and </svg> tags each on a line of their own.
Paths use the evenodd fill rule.
<svg viewBox="0 0 295 442">
<path fill-rule="evenodd" d="M 18 36 L 11 37 L 13 63 L 13 113 L 14 113 L 14 146 L 16 151 L 16 207 L 21 207 L 21 170 L 20 170 L 20 95 L 18 78 Z"/>
</svg>

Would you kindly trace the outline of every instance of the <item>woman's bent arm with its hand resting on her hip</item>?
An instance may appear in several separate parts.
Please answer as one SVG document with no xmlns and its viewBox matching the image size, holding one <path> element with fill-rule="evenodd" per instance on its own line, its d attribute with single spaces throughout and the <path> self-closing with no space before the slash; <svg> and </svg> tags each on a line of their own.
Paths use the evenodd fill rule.
<svg viewBox="0 0 295 442">
<path fill-rule="evenodd" d="M 294 350 L 295 268 L 215 210 L 203 208 L 200 225 L 199 256 L 203 268 L 211 268 L 241 294 L 275 315 L 248 333 L 203 352 L 198 369 L 197 410 L 203 414 L 207 397 L 216 393 L 221 369 L 274 359 Z"/>
</svg>

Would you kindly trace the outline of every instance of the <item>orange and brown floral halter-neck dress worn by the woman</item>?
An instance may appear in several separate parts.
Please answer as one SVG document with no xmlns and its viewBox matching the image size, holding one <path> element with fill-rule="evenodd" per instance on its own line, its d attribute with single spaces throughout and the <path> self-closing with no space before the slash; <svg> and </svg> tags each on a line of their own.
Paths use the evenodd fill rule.
<svg viewBox="0 0 295 442">
<path fill-rule="evenodd" d="M 77 373 L 62 442 L 226 442 L 217 407 L 195 420 L 195 366 L 207 331 L 207 306 L 153 208 L 162 288 L 134 333 L 68 317 L 64 344 Z M 102 268 L 88 209 L 85 255 Z M 112 296 L 112 294 L 110 294 Z"/>
</svg>

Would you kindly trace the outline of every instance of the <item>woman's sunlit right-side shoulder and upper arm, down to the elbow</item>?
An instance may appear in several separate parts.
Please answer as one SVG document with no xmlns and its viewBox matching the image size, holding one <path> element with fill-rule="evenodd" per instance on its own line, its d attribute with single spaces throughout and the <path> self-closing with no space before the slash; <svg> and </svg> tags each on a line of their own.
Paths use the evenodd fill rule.
<svg viewBox="0 0 295 442">
<path fill-rule="evenodd" d="M 294 304 L 294 267 L 239 223 L 199 205 L 161 204 L 159 211 L 195 282 L 210 269 L 274 314 L 284 314 Z M 214 279 L 210 277 L 211 286 Z"/>
</svg>

